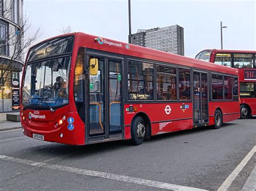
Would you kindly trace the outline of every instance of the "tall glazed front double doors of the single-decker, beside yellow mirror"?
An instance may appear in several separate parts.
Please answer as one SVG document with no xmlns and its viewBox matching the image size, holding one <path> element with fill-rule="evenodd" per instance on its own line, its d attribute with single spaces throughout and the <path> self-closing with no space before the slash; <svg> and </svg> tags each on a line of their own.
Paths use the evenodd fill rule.
<svg viewBox="0 0 256 191">
<path fill-rule="evenodd" d="M 98 74 L 87 78 L 86 142 L 123 137 L 122 63 L 121 59 L 98 59 Z M 88 62 L 87 62 L 88 63 Z"/>
</svg>

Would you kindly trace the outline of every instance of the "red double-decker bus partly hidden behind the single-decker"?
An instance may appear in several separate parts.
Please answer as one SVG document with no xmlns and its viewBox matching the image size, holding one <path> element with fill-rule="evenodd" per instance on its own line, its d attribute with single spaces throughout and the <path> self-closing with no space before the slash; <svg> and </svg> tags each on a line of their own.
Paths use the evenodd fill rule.
<svg viewBox="0 0 256 191">
<path fill-rule="evenodd" d="M 240 84 L 240 116 L 256 115 L 256 51 L 205 49 L 196 59 L 238 68 Z"/>
</svg>

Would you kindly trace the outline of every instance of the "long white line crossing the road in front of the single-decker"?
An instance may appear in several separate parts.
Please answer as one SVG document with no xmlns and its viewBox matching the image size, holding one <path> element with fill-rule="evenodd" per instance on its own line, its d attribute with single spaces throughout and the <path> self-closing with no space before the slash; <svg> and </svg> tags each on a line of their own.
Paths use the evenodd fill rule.
<svg viewBox="0 0 256 191">
<path fill-rule="evenodd" d="M 91 171 L 91 170 L 87 170 L 87 169 L 75 168 L 75 167 L 69 167 L 69 166 L 52 165 L 52 164 L 47 164 L 44 162 L 36 162 L 36 161 L 32 161 L 32 160 L 8 157 L 6 155 L 0 155 L 0 159 L 5 160 L 5 161 L 11 161 L 11 162 L 17 162 L 17 163 L 21 163 L 21 164 L 36 166 L 36 167 L 44 167 L 44 168 L 50 168 L 50 169 L 55 169 L 55 170 L 59 170 L 59 171 L 83 174 L 83 175 L 88 175 L 88 176 L 96 176 L 96 177 L 100 177 L 100 178 L 118 180 L 118 181 L 123 181 L 123 182 L 136 183 L 138 185 L 150 186 L 150 187 L 155 187 L 155 188 L 179 190 L 179 191 L 181 191 L 181 190 L 182 191 L 185 191 L 185 190 L 194 190 L 194 191 L 202 190 L 203 191 L 204 190 L 204 189 L 187 187 L 187 186 L 173 185 L 171 183 L 152 181 L 152 180 L 146 180 L 146 179 L 140 179 L 140 178 L 133 178 L 131 176 L 125 176 L 125 175 Z"/>
</svg>

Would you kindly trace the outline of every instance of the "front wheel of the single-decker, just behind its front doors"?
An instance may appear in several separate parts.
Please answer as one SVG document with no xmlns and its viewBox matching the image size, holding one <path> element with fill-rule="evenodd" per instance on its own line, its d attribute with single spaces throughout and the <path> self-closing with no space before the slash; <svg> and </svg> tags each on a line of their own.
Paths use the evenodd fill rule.
<svg viewBox="0 0 256 191">
<path fill-rule="evenodd" d="M 143 140 L 146 135 L 146 124 L 142 117 L 137 116 L 132 121 L 131 126 L 131 136 L 132 136 L 132 144 L 140 145 L 143 143 Z"/>
</svg>

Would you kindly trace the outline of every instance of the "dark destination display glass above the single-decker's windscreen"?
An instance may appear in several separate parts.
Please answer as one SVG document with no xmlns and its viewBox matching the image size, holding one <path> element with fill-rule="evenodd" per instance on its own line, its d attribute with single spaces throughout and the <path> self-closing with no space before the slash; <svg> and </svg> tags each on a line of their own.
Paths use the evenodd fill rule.
<svg viewBox="0 0 256 191">
<path fill-rule="evenodd" d="M 73 36 L 60 37 L 36 45 L 30 49 L 28 62 L 49 56 L 72 53 L 73 39 Z"/>
</svg>

